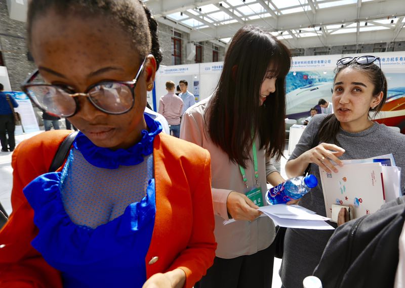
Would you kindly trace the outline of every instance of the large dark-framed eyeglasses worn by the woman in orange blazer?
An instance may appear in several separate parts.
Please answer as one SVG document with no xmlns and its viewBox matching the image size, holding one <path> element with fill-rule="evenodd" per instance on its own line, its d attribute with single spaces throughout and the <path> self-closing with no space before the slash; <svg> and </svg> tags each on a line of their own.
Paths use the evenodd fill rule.
<svg viewBox="0 0 405 288">
<path fill-rule="evenodd" d="M 145 66 L 146 58 L 132 81 L 102 81 L 77 93 L 71 87 L 46 83 L 31 83 L 36 70 L 21 85 L 29 99 L 39 108 L 60 117 L 71 117 L 79 111 L 79 96 L 88 97 L 98 110 L 107 114 L 124 114 L 134 107 L 135 87 Z"/>
</svg>

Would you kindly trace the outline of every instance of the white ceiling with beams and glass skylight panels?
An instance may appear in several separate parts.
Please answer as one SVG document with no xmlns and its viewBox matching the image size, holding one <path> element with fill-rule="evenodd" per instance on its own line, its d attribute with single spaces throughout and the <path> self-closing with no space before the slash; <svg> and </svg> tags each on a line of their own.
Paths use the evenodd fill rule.
<svg viewBox="0 0 405 288">
<path fill-rule="evenodd" d="M 291 49 L 405 40 L 405 0 L 146 0 L 144 3 L 159 22 L 190 33 L 191 41 L 195 42 L 227 43 L 245 24 L 272 31 Z"/>
</svg>

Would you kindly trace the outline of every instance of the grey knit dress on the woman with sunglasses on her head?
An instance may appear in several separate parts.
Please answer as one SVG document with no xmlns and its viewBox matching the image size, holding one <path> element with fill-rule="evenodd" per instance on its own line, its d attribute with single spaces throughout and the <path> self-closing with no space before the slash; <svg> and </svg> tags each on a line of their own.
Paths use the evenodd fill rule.
<svg viewBox="0 0 405 288">
<path fill-rule="evenodd" d="M 313 117 L 305 128 L 290 160 L 298 158 L 311 148 L 319 125 L 326 116 L 315 115 Z M 396 166 L 402 168 L 401 187 L 403 191 L 405 184 L 404 134 L 395 132 L 385 125 L 374 123 L 370 128 L 357 133 L 340 129 L 337 139 L 340 146 L 346 151 L 340 157 L 342 160 L 363 159 L 392 153 Z M 333 141 L 328 142 L 333 143 Z M 318 186 L 301 199 L 300 205 L 319 215 L 326 216 L 319 168 L 316 164 L 311 164 L 311 174 L 318 179 Z M 302 287 L 303 279 L 312 275 L 332 233 L 331 230 L 287 229 L 284 256 L 280 268 L 281 280 L 286 288 Z"/>
</svg>

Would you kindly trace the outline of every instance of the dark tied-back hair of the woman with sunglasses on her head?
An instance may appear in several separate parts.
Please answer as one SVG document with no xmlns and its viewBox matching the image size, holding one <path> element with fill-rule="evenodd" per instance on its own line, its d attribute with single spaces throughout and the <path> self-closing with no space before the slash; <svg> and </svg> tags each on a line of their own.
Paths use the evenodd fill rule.
<svg viewBox="0 0 405 288">
<path fill-rule="evenodd" d="M 348 65 L 338 66 L 336 70 L 336 75 L 334 78 L 334 83 L 336 81 L 336 77 L 339 75 L 341 71 L 346 68 L 352 68 L 357 70 L 359 73 L 365 74 L 370 81 L 374 85 L 373 89 L 373 97 L 377 97 L 381 92 L 383 92 L 383 98 L 381 102 L 375 107 L 370 108 L 369 111 L 374 112 L 374 116 L 381 111 L 382 107 L 387 100 L 387 79 L 385 78 L 384 72 L 380 69 L 380 67 L 376 64 L 370 65 L 361 65 L 357 62 L 353 61 L 350 62 Z M 336 118 L 335 114 L 328 115 L 323 121 L 320 123 L 319 126 L 319 140 L 321 142 L 326 142 L 329 140 L 333 140 L 336 145 L 340 145 L 337 139 L 337 134 L 340 129 L 340 122 Z"/>
</svg>

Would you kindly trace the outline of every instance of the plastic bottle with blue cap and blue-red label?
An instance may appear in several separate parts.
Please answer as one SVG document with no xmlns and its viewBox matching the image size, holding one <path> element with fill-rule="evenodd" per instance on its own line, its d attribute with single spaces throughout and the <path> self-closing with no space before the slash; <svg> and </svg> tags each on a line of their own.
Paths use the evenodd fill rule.
<svg viewBox="0 0 405 288">
<path fill-rule="evenodd" d="M 297 200 L 309 192 L 318 184 L 318 180 L 312 174 L 288 179 L 277 186 L 269 189 L 266 193 L 267 203 L 270 205 L 287 203 Z"/>
</svg>

